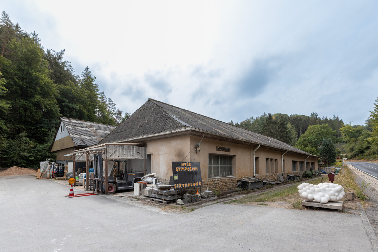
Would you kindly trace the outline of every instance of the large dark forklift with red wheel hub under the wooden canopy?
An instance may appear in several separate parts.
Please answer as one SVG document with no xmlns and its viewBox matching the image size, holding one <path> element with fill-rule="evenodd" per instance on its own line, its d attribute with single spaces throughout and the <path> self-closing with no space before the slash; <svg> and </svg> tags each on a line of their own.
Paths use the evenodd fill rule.
<svg viewBox="0 0 378 252">
<path fill-rule="evenodd" d="M 102 165 L 102 153 L 94 155 L 94 177 L 95 181 L 100 182 L 98 190 L 105 193 L 105 176 Z M 108 193 L 113 194 L 117 190 L 134 189 L 134 183 L 141 181 L 143 172 L 133 172 L 132 168 L 127 167 L 127 159 L 113 159 L 112 169 L 108 175 Z M 91 183 L 91 184 L 93 184 Z"/>
</svg>

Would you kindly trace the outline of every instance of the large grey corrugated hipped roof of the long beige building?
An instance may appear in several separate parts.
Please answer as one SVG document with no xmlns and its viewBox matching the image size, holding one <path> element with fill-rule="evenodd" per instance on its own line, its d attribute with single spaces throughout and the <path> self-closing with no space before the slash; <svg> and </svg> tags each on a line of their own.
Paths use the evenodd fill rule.
<svg viewBox="0 0 378 252">
<path fill-rule="evenodd" d="M 226 138 L 240 139 L 274 149 L 310 155 L 307 152 L 299 150 L 290 144 L 278 141 L 277 139 L 153 99 L 149 99 L 125 122 L 102 139 L 100 143 L 122 141 L 184 128 L 195 128 L 209 133 L 223 135 Z"/>
</svg>

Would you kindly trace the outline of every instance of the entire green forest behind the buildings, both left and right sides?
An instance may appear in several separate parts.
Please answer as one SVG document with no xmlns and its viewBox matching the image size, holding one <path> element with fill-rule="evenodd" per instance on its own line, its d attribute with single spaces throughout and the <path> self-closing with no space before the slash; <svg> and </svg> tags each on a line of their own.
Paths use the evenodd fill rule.
<svg viewBox="0 0 378 252">
<path fill-rule="evenodd" d="M 0 20 L 0 167 L 38 167 L 54 160 L 50 147 L 59 117 L 119 125 L 122 113 L 101 92 L 88 66 L 74 73 L 65 50 L 44 49 L 38 34 L 26 32 L 2 12 Z M 378 158 L 378 99 L 366 125 L 344 123 L 336 115 L 320 117 L 265 112 L 229 124 L 293 145 L 331 164 L 347 154 L 351 159 Z"/>
</svg>

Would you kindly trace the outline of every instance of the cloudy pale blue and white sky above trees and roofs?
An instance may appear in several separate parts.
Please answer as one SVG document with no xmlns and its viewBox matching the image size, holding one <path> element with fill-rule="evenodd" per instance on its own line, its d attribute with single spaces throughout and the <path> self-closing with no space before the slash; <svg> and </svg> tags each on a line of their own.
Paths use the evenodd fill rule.
<svg viewBox="0 0 378 252">
<path fill-rule="evenodd" d="M 376 1 L 2 1 L 123 112 L 148 98 L 224 122 L 266 113 L 364 125 L 378 97 Z"/>
</svg>

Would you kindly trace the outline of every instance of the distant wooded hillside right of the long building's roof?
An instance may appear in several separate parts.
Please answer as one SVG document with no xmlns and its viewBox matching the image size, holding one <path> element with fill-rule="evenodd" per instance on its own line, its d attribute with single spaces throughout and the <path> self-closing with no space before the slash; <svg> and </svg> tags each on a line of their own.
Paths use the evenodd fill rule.
<svg viewBox="0 0 378 252">
<path fill-rule="evenodd" d="M 305 152 L 321 156 L 330 165 L 336 157 L 352 159 L 378 159 L 378 99 L 366 125 L 344 124 L 338 116 L 319 117 L 263 113 L 238 123 L 229 124 L 270 136 Z M 343 155 L 341 155 L 343 154 Z"/>
</svg>

